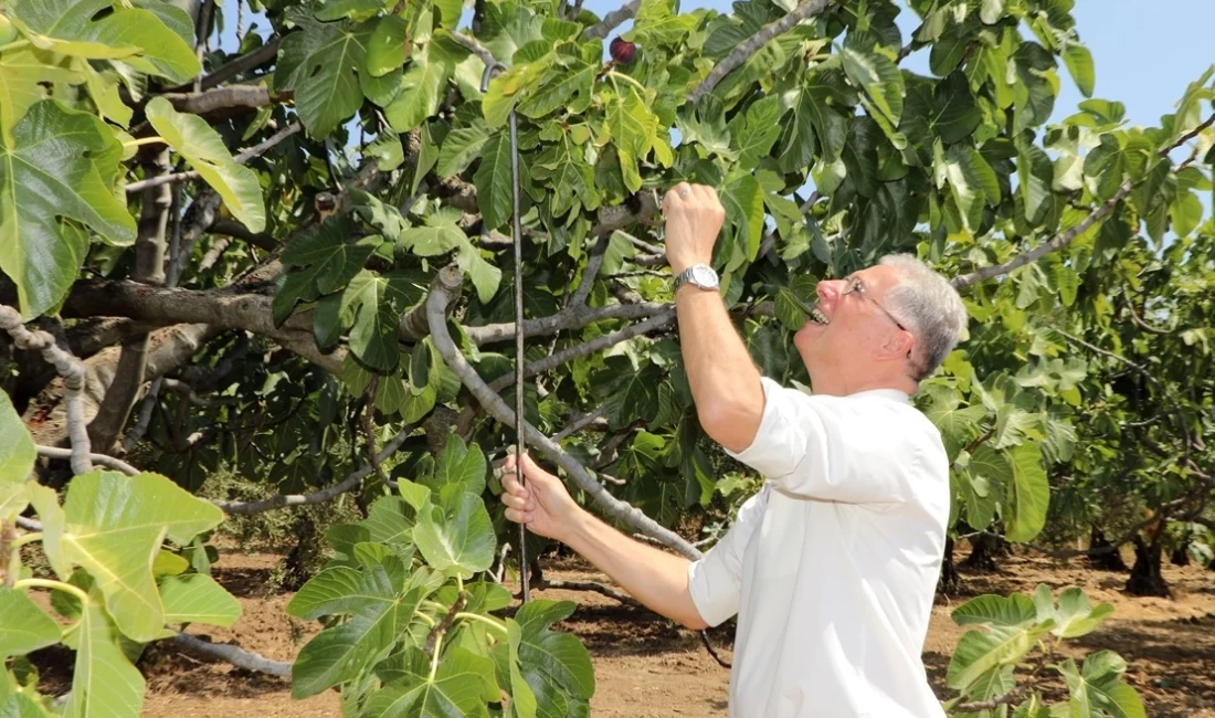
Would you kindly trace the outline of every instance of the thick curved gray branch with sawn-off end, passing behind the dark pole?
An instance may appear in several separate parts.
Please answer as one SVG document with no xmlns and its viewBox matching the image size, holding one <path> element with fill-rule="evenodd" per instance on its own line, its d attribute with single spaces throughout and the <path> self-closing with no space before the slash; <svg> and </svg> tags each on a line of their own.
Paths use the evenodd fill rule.
<svg viewBox="0 0 1215 718">
<path fill-rule="evenodd" d="M 484 406 L 490 414 L 503 424 L 513 426 L 515 425 L 514 412 L 505 405 L 505 402 L 502 401 L 502 397 L 490 389 L 485 380 L 477 375 L 476 371 L 469 366 L 468 361 L 456 347 L 456 344 L 452 341 L 451 334 L 447 330 L 446 310 L 448 304 L 448 293 L 456 292 L 462 284 L 463 275 L 459 268 L 448 266 L 440 270 L 435 283 L 430 288 L 430 296 L 426 300 L 430 310 L 428 315 L 430 320 L 430 337 L 435 343 L 435 349 L 439 350 L 439 354 L 443 357 L 447 367 L 460 378 L 460 381 L 469 389 L 469 391 L 473 392 L 473 396 L 481 402 L 481 406 Z M 592 476 L 590 473 L 577 462 L 577 459 L 567 454 L 548 436 L 537 431 L 535 426 L 525 422 L 524 430 L 526 434 L 526 441 L 530 442 L 531 446 L 537 447 L 561 469 L 564 469 L 573 482 L 577 484 L 582 491 L 587 492 L 597 504 L 599 504 L 608 516 L 622 521 L 642 533 L 652 536 L 688 558 L 700 558 L 701 553 L 690 543 L 684 541 L 678 533 L 659 525 L 635 507 L 632 507 L 608 493 L 603 485 L 595 481 L 594 476 Z"/>
</svg>

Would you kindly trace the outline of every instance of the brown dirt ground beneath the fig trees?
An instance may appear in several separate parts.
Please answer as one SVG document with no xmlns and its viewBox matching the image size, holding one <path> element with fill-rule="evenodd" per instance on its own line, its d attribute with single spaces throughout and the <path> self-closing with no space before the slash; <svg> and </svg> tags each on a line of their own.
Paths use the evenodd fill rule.
<svg viewBox="0 0 1215 718">
<path fill-rule="evenodd" d="M 215 566 L 215 578 L 237 595 L 244 614 L 232 629 L 198 627 L 192 632 L 219 643 L 234 640 L 266 657 L 289 661 L 316 632 L 316 623 L 286 615 L 283 606 L 290 594 L 267 595 L 267 577 L 279 559 L 272 554 L 224 554 Z M 1170 565 L 1164 573 L 1174 588 L 1174 599 L 1126 597 L 1120 590 L 1124 573 L 1094 571 L 1081 561 L 1006 558 L 998 572 L 963 573 L 960 593 L 938 597 L 933 611 L 923 654 L 929 678 L 938 695 L 946 696 L 943 683 L 949 655 L 963 633 L 949 611 L 962 601 L 984 593 L 1032 594 L 1039 583 L 1056 590 L 1080 586 L 1094 601 L 1113 603 L 1115 611 L 1079 645 L 1085 651 L 1112 649 L 1126 658 L 1128 680 L 1143 696 L 1148 716 L 1215 718 L 1215 571 Z M 546 577 L 605 581 L 573 561 L 547 564 Z M 713 661 L 696 633 L 595 593 L 547 589 L 533 590 L 532 595 L 581 604 L 559 627 L 576 633 L 590 650 L 597 680 L 590 705 L 597 718 L 727 714 L 729 672 Z M 730 629 L 723 627 L 711 635 L 718 654 L 729 661 Z M 143 716 L 149 718 L 340 714 L 335 691 L 293 701 L 284 679 L 209 662 L 175 644 L 151 646 L 140 660 L 140 669 L 147 677 Z M 44 673 L 46 679 L 56 682 L 53 669 Z"/>
</svg>

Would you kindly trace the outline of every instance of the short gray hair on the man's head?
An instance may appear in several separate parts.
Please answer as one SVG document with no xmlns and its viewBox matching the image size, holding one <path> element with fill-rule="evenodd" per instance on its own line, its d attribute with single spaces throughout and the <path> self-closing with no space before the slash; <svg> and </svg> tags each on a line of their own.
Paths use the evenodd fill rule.
<svg viewBox="0 0 1215 718">
<path fill-rule="evenodd" d="M 878 264 L 898 270 L 902 281 L 886 293 L 895 316 L 916 337 L 912 378 L 928 378 L 949 352 L 954 351 L 966 328 L 966 307 L 957 290 L 932 267 L 910 254 L 888 254 Z"/>
</svg>

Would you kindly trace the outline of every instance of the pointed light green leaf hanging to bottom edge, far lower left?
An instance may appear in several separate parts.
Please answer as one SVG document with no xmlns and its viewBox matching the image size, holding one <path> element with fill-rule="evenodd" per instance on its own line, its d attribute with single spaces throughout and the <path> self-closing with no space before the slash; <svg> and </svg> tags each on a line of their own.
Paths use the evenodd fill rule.
<svg viewBox="0 0 1215 718">
<path fill-rule="evenodd" d="M 80 479 L 72 480 L 72 488 Z M 90 600 L 84 606 L 78 635 L 72 692 L 63 714 L 69 718 L 137 718 L 143 707 L 143 677 L 123 652 L 122 637 L 101 603 Z"/>
</svg>

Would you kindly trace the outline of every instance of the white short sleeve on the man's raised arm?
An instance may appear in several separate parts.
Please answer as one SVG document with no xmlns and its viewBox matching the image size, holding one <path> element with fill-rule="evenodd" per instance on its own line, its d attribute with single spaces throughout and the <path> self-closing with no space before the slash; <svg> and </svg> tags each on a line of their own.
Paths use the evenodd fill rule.
<svg viewBox="0 0 1215 718">
<path fill-rule="evenodd" d="M 810 396 L 767 377 L 762 383 L 755 440 L 729 456 L 793 496 L 871 504 L 914 499 L 910 476 L 929 441 L 917 409 L 878 392 Z"/>
</svg>

